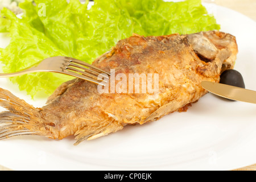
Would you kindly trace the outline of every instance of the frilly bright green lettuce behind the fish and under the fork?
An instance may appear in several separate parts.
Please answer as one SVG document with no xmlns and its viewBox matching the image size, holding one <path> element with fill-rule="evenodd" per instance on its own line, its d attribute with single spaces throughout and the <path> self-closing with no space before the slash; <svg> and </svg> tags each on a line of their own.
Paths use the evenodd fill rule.
<svg viewBox="0 0 256 182">
<path fill-rule="evenodd" d="M 92 63 L 118 40 L 133 33 L 149 35 L 191 34 L 219 30 L 220 26 L 200 0 L 164 2 L 162 0 L 89 1 L 26 0 L 17 18 L 10 10 L 0 15 L 0 32 L 9 32 L 9 46 L 0 49 L 4 72 L 16 72 L 42 59 L 69 56 Z M 72 77 L 57 73 L 30 73 L 10 78 L 32 98 L 51 94 Z"/>
</svg>

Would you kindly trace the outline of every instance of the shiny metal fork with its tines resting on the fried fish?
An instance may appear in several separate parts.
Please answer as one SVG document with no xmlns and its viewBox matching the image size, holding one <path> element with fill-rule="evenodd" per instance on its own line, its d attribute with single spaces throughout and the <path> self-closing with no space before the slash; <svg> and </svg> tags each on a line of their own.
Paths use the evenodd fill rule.
<svg viewBox="0 0 256 182">
<path fill-rule="evenodd" d="M 27 73 L 34 72 L 54 72 L 61 73 L 64 75 L 69 75 L 77 78 L 81 78 L 83 80 L 87 80 L 93 82 L 95 84 L 104 85 L 103 82 L 108 82 L 106 80 L 109 79 L 110 74 L 105 72 L 97 67 L 94 67 L 91 64 L 85 63 L 84 61 L 80 61 L 74 59 L 72 57 L 65 56 L 56 56 L 49 57 L 38 63 L 23 69 L 22 71 L 15 73 L 0 73 L 1 77 L 14 77 L 20 76 Z M 106 78 L 106 80 L 102 80 L 102 78 L 98 78 L 98 75 L 102 76 L 102 78 Z"/>
</svg>

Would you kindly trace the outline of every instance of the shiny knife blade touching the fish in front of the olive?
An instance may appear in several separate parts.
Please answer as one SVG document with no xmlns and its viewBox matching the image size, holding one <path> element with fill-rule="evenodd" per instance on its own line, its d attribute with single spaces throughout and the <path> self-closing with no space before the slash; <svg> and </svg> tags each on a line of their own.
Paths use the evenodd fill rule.
<svg viewBox="0 0 256 182">
<path fill-rule="evenodd" d="M 208 90 L 217 96 L 228 98 L 230 100 L 256 104 L 256 91 L 254 90 L 247 90 L 237 86 L 219 84 L 210 81 L 202 81 L 201 86 L 203 86 L 205 90 Z"/>
</svg>

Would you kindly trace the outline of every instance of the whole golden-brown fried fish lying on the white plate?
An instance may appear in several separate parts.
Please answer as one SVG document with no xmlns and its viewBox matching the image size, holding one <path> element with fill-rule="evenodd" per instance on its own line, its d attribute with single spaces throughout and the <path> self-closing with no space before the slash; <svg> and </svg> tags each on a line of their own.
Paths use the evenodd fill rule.
<svg viewBox="0 0 256 182">
<path fill-rule="evenodd" d="M 126 125 L 185 111 L 207 93 L 201 81 L 218 82 L 221 72 L 233 69 L 237 52 L 236 38 L 219 31 L 148 37 L 134 34 L 120 40 L 93 65 L 127 77 L 129 73 L 157 74 L 157 93 L 99 93 L 98 85 L 77 78 L 59 86 L 46 106 L 35 108 L 0 89 L 0 106 L 7 109 L 0 113 L 0 139 L 16 135 L 63 139 L 76 135 L 75 144 L 79 144 Z"/>
</svg>

